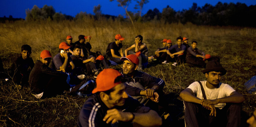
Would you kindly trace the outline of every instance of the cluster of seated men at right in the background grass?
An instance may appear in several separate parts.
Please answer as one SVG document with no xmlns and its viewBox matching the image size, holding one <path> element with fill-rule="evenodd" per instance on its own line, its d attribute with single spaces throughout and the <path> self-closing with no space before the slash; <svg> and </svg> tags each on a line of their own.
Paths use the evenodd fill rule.
<svg viewBox="0 0 256 127">
<path fill-rule="evenodd" d="M 163 48 L 158 48 L 155 51 L 155 56 L 151 58 L 157 58 L 162 61 L 162 64 L 174 62 L 172 65 L 177 66 L 186 62 L 191 66 L 205 68 L 206 63 L 204 60 L 209 58 L 210 55 L 205 55 L 203 51 L 197 49 L 197 41 L 192 41 L 191 46 L 189 46 L 189 38 L 177 37 L 176 40 L 177 44 L 172 46 L 170 39 L 163 39 L 161 41 Z"/>
</svg>

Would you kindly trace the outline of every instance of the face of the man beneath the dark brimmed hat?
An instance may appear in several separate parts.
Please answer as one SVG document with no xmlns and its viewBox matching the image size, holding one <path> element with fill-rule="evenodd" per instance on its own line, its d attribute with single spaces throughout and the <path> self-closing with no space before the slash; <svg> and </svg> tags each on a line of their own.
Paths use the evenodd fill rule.
<svg viewBox="0 0 256 127">
<path fill-rule="evenodd" d="M 209 72 L 205 73 L 205 77 L 207 78 L 208 83 L 212 84 L 213 86 L 219 85 L 221 79 L 221 72 Z"/>
</svg>

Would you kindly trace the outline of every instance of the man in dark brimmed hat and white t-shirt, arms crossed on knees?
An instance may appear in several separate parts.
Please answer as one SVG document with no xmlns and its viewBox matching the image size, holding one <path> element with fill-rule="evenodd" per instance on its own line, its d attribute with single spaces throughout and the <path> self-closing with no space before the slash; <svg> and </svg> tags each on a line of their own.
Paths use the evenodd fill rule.
<svg viewBox="0 0 256 127">
<path fill-rule="evenodd" d="M 184 100 L 185 125 L 188 127 L 239 127 L 243 95 L 220 83 L 226 70 L 217 61 L 209 61 L 202 71 L 206 81 L 194 82 L 181 91 Z"/>
</svg>

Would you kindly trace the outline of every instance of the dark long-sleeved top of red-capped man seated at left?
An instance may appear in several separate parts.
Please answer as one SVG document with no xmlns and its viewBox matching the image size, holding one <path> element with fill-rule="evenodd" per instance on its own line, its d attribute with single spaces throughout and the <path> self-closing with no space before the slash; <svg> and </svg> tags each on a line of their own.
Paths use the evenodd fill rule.
<svg viewBox="0 0 256 127">
<path fill-rule="evenodd" d="M 45 86 L 52 77 L 60 76 L 64 81 L 67 80 L 67 74 L 61 71 L 56 71 L 37 60 L 34 68 L 29 75 L 29 83 L 33 93 L 39 94 L 44 91 Z"/>
</svg>

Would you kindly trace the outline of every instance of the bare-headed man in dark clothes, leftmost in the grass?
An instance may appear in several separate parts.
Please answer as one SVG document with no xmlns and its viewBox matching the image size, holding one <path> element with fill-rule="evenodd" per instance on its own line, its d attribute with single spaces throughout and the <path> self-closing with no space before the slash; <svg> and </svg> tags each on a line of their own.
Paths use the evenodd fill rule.
<svg viewBox="0 0 256 127">
<path fill-rule="evenodd" d="M 31 47 L 27 44 L 21 46 L 21 56 L 12 64 L 13 82 L 18 89 L 28 84 L 29 73 L 34 67 L 34 61 L 30 58 Z"/>
</svg>

